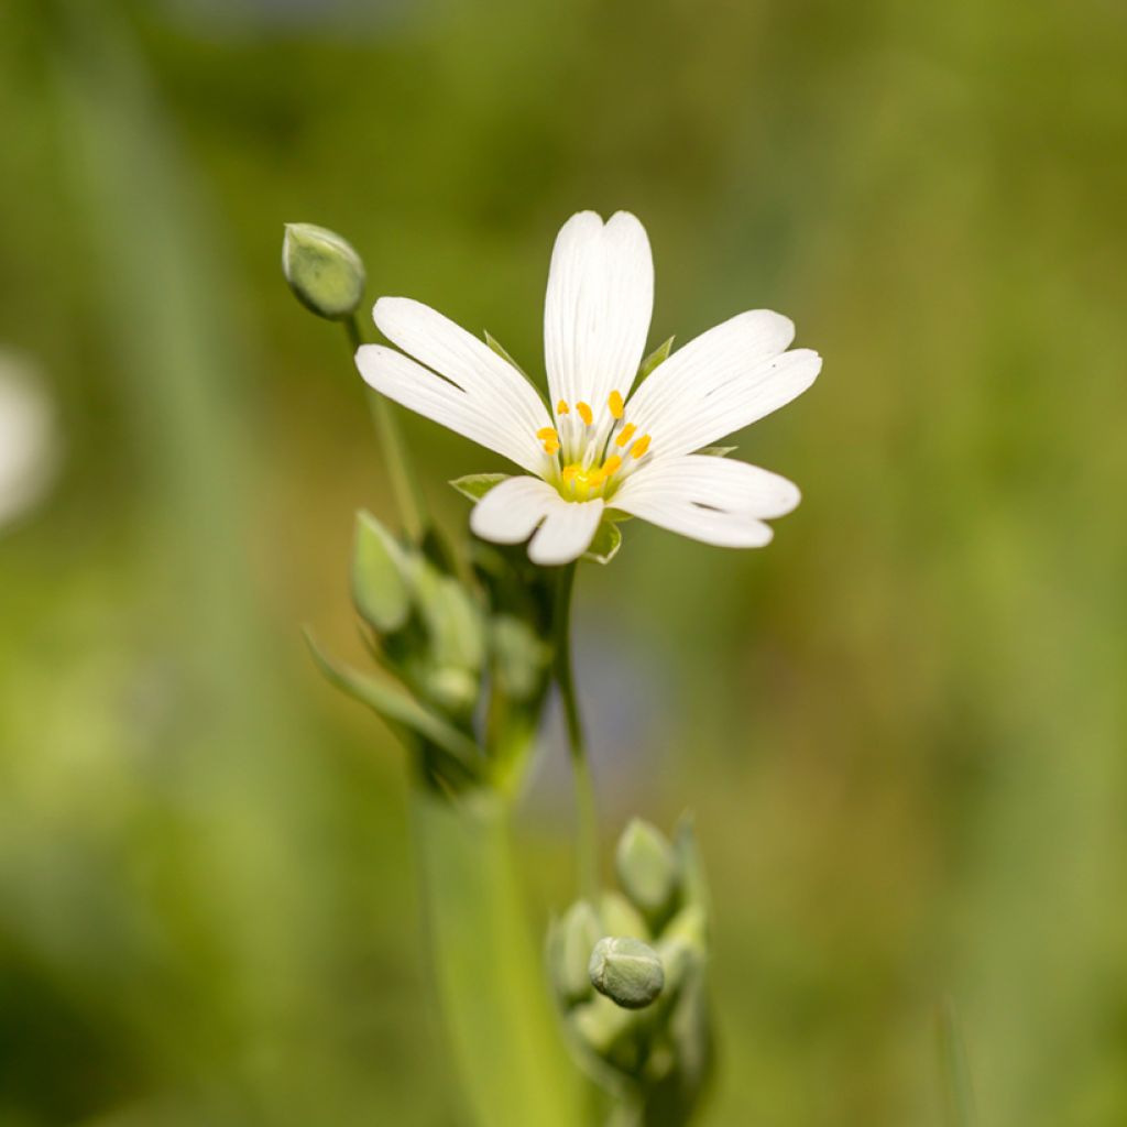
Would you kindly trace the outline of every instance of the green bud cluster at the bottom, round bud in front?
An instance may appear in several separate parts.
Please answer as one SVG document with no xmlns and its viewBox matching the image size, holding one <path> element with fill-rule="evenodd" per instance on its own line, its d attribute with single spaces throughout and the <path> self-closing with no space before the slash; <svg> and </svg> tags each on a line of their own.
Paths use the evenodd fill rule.
<svg viewBox="0 0 1127 1127">
<path fill-rule="evenodd" d="M 577 900 L 551 928 L 557 1003 L 595 1080 L 642 1107 L 659 1102 L 663 1122 L 684 1124 L 712 1062 L 709 906 L 690 819 L 672 842 L 631 822 L 615 872 L 620 890 Z"/>
</svg>

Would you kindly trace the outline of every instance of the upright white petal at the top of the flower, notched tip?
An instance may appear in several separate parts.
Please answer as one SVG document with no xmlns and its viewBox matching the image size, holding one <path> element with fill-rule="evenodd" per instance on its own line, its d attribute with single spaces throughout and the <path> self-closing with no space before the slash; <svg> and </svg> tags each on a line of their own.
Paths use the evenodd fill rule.
<svg viewBox="0 0 1127 1127">
<path fill-rule="evenodd" d="M 654 311 L 654 259 L 646 229 L 628 212 L 605 225 L 579 212 L 552 250 L 544 301 L 544 363 L 556 403 L 596 412 L 633 385 Z"/>
</svg>

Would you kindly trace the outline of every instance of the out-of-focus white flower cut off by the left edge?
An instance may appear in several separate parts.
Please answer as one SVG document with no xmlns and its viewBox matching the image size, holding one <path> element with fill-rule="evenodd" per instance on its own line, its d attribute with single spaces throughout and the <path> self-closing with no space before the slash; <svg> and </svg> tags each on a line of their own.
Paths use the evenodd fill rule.
<svg viewBox="0 0 1127 1127">
<path fill-rule="evenodd" d="M 26 357 L 0 349 L 0 527 L 42 499 L 57 465 L 51 399 Z"/>
</svg>

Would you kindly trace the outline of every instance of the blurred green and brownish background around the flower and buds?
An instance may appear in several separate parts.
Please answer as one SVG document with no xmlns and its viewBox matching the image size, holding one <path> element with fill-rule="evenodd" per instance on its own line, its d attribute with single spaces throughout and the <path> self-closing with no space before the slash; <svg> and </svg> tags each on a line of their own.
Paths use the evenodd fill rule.
<svg viewBox="0 0 1127 1127">
<path fill-rule="evenodd" d="M 358 649 L 390 517 L 282 224 L 540 367 L 551 240 L 636 212 L 653 343 L 792 316 L 762 552 L 585 567 L 606 829 L 698 811 L 708 1121 L 1127 1122 L 1127 8 L 6 0 L 0 344 L 63 465 L 0 532 L 0 1125 L 445 1125 L 403 764 Z M 407 423 L 426 489 L 499 469 Z M 549 733 L 523 807 L 571 896 Z M 482 1036 L 488 1036 L 483 1030 Z"/>
</svg>

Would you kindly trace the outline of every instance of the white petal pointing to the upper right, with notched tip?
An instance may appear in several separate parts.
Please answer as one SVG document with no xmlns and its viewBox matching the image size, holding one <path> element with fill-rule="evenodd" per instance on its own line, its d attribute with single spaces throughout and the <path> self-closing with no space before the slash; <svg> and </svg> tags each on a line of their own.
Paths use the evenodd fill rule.
<svg viewBox="0 0 1127 1127">
<path fill-rule="evenodd" d="M 822 369 L 808 348 L 783 352 L 791 321 L 754 310 L 675 352 L 638 389 L 627 418 L 653 436 L 658 456 L 684 454 L 770 415 L 804 392 Z"/>
</svg>

